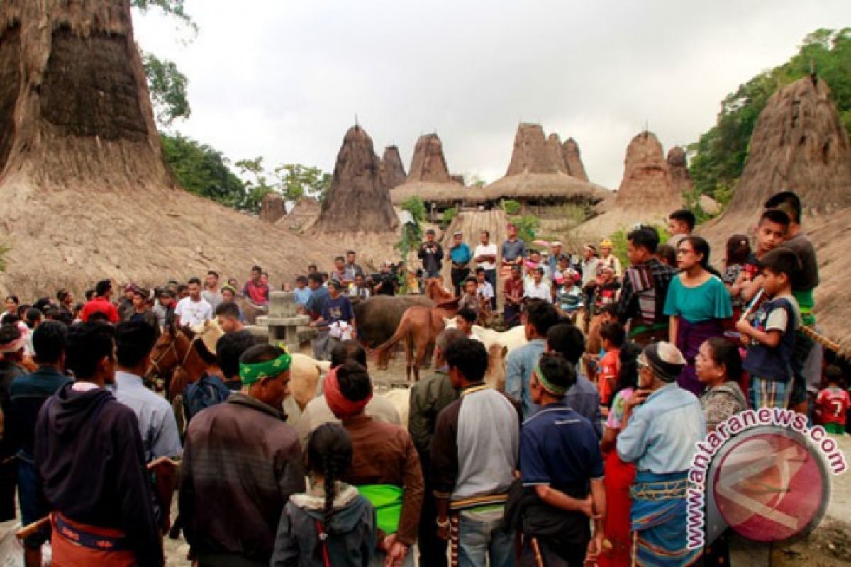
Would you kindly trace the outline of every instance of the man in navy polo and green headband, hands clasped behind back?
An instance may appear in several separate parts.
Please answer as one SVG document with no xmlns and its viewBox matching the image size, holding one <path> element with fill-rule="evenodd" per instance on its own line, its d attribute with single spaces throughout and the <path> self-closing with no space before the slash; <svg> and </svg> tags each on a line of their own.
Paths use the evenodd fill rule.
<svg viewBox="0 0 851 567">
<path fill-rule="evenodd" d="M 529 382 L 540 410 L 523 422 L 520 474 L 523 488 L 536 496 L 523 511 L 523 555 L 533 558 L 537 547 L 545 564 L 580 567 L 586 554 L 593 560 L 603 548 L 606 491 L 597 435 L 563 402 L 574 381 L 573 367 L 561 354 L 540 357 Z"/>
</svg>

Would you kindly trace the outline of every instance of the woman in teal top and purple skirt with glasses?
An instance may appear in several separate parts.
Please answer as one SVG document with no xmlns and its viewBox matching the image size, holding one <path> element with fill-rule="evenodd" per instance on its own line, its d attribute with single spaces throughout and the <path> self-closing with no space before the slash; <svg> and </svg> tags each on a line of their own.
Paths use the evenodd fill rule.
<svg viewBox="0 0 851 567">
<path fill-rule="evenodd" d="M 665 315 L 671 317 L 669 340 L 688 363 L 677 383 L 700 396 L 704 386 L 694 371 L 694 359 L 706 339 L 723 336 L 723 322 L 733 316 L 733 303 L 721 278 L 712 273 L 709 243 L 700 236 L 686 236 L 677 245 L 677 268 L 680 274 L 671 280 L 665 298 Z"/>
</svg>

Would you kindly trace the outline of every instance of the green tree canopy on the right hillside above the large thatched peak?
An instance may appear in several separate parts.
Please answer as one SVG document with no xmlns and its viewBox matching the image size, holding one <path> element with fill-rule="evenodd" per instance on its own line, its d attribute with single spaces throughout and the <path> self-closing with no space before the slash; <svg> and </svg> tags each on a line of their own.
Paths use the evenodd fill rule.
<svg viewBox="0 0 851 567">
<path fill-rule="evenodd" d="M 851 133 L 851 28 L 819 29 L 804 38 L 791 60 L 753 77 L 722 100 L 715 126 L 688 147 L 695 190 L 722 203 L 729 201 L 768 99 L 813 71 L 830 85 L 842 122 Z"/>
</svg>

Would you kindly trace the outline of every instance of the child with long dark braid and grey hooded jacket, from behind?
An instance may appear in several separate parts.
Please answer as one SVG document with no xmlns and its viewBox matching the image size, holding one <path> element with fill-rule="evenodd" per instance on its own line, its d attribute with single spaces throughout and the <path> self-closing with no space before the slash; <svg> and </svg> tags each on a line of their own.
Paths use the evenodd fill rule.
<svg viewBox="0 0 851 567">
<path fill-rule="evenodd" d="M 349 434 L 325 423 L 311 434 L 306 453 L 310 483 L 283 508 L 271 565 L 367 567 L 375 551 L 375 510 L 340 481 L 354 453 Z"/>
</svg>

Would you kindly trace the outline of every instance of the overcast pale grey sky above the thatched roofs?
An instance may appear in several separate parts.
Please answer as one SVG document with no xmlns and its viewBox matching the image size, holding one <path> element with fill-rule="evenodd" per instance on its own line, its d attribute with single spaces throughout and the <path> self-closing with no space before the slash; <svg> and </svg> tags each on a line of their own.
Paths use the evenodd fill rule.
<svg viewBox="0 0 851 567">
<path fill-rule="evenodd" d="M 499 179 L 517 123 L 580 144 L 616 189 L 645 122 L 667 151 L 710 128 L 719 102 L 785 62 L 819 27 L 851 24 L 848 0 L 186 0 L 174 20 L 137 17 L 140 47 L 189 78 L 174 129 L 231 160 L 265 156 L 333 171 L 354 116 L 376 153 L 437 130 L 449 169 Z"/>
</svg>

